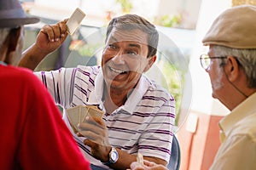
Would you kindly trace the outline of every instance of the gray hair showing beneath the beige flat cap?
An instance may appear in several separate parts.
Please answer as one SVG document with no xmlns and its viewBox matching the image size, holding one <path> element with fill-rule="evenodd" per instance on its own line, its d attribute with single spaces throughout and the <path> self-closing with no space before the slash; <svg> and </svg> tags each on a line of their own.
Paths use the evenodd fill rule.
<svg viewBox="0 0 256 170">
<path fill-rule="evenodd" d="M 220 45 L 212 47 L 214 54 L 218 56 L 234 56 L 236 57 L 240 67 L 244 70 L 247 77 L 247 87 L 256 88 L 256 49 L 239 49 L 228 48 Z M 223 59 L 226 64 L 227 59 Z"/>
</svg>

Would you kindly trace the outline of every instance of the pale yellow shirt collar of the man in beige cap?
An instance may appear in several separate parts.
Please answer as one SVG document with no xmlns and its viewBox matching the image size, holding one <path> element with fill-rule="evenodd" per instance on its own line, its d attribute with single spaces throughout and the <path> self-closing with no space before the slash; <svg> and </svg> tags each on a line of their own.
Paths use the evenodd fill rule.
<svg viewBox="0 0 256 170">
<path fill-rule="evenodd" d="M 230 112 L 229 115 L 224 116 L 224 118 L 218 123 L 219 127 L 223 131 L 224 135 L 227 136 L 230 133 L 232 127 L 237 122 L 240 122 L 246 116 L 249 116 L 256 111 L 256 93 L 249 96 L 240 105 L 237 105 L 236 108 Z"/>
</svg>

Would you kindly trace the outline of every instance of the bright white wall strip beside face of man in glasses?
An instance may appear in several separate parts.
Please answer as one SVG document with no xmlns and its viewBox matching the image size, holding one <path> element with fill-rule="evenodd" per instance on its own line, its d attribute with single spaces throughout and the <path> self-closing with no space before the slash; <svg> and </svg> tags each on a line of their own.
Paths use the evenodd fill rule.
<svg viewBox="0 0 256 170">
<path fill-rule="evenodd" d="M 201 68 L 200 55 L 207 53 L 207 47 L 201 40 L 212 25 L 213 20 L 226 8 L 231 7 L 231 0 L 202 0 L 196 26 L 195 48 L 191 55 L 189 71 L 193 83 L 191 110 L 209 115 L 224 116 L 229 111 L 217 99 L 212 99 L 211 82 L 206 71 Z"/>
</svg>

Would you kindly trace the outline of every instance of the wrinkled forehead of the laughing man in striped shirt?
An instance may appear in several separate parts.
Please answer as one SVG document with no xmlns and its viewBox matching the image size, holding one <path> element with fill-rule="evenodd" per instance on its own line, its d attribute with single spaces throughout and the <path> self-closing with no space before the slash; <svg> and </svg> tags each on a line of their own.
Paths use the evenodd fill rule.
<svg viewBox="0 0 256 170">
<path fill-rule="evenodd" d="M 109 33 L 107 43 L 114 42 L 135 42 L 148 46 L 148 34 L 139 30 L 124 30 L 114 27 Z"/>
</svg>

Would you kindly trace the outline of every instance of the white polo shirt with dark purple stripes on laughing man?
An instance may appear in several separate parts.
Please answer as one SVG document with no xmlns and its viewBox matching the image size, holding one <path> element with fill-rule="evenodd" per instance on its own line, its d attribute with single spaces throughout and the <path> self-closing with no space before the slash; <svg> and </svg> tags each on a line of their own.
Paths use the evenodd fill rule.
<svg viewBox="0 0 256 170">
<path fill-rule="evenodd" d="M 100 66 L 61 68 L 56 71 L 40 71 L 35 74 L 44 82 L 56 104 L 61 105 L 63 119 L 73 133 L 65 109 L 76 105 L 99 105 L 102 102 L 103 74 Z M 120 106 L 103 120 L 108 127 L 108 141 L 127 153 L 154 156 L 169 161 L 172 148 L 172 128 L 175 121 L 175 100 L 165 88 L 144 75 L 132 90 L 125 105 Z M 90 156 L 90 147 L 83 137 L 77 137 L 86 159 L 97 166 L 106 167 Z"/>
</svg>

